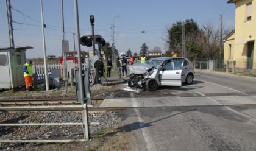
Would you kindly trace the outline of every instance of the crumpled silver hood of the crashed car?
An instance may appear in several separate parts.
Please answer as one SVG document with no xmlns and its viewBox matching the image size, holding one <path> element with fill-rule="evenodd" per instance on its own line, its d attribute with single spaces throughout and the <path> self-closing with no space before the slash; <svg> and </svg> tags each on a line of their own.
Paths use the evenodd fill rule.
<svg viewBox="0 0 256 151">
<path fill-rule="evenodd" d="M 130 73 L 133 74 L 145 74 L 149 69 L 154 66 L 146 64 L 146 63 L 136 63 L 130 66 Z"/>
</svg>

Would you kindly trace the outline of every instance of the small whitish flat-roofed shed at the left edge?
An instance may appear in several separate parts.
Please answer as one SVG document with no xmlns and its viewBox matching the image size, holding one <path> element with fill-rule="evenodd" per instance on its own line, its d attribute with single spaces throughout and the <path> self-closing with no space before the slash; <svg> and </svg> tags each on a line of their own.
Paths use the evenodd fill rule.
<svg viewBox="0 0 256 151">
<path fill-rule="evenodd" d="M 32 48 L 0 48 L 0 89 L 25 85 L 22 67 L 26 63 L 26 50 Z"/>
</svg>

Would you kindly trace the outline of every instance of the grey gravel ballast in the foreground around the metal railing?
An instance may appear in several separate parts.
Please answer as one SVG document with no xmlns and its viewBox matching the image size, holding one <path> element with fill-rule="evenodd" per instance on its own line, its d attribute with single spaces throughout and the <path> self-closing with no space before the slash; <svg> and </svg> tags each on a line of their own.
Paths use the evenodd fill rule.
<svg viewBox="0 0 256 151">
<path fill-rule="evenodd" d="M 107 128 L 117 128 L 122 117 L 115 111 L 89 113 L 90 134 Z M 82 122 L 82 114 L 74 111 L 0 112 L 0 123 L 61 123 Z M 82 139 L 82 126 L 0 127 L 0 139 Z M 27 144 L 1 144 L 0 150 L 12 150 Z"/>
</svg>

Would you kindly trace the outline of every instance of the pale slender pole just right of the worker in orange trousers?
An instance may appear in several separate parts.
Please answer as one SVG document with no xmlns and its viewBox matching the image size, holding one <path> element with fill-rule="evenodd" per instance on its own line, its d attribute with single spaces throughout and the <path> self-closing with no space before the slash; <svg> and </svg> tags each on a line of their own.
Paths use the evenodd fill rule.
<svg viewBox="0 0 256 151">
<path fill-rule="evenodd" d="M 46 45 L 45 45 L 45 35 L 44 35 L 44 21 L 43 21 L 43 0 L 41 0 L 41 26 L 42 26 L 42 36 L 43 36 L 43 58 L 44 58 L 44 78 L 46 91 L 49 91 L 49 83 L 48 83 L 48 71 L 46 65 Z"/>
</svg>

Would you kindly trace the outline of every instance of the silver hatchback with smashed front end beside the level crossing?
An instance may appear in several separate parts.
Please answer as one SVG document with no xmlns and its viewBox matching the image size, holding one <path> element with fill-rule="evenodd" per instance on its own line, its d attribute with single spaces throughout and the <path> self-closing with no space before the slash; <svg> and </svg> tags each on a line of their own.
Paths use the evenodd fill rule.
<svg viewBox="0 0 256 151">
<path fill-rule="evenodd" d="M 127 82 L 129 87 L 154 91 L 160 86 L 190 85 L 193 79 L 193 64 L 187 58 L 159 57 L 130 66 Z"/>
</svg>

